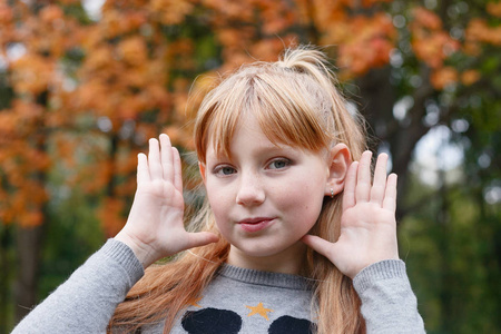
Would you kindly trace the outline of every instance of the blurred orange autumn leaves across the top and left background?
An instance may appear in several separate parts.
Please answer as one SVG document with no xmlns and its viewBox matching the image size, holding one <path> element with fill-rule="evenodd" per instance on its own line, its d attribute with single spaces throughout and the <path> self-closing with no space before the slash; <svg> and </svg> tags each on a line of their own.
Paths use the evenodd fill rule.
<svg viewBox="0 0 501 334">
<path fill-rule="evenodd" d="M 112 235 L 135 189 L 136 154 L 160 131 L 193 149 L 189 120 L 219 72 L 312 42 L 330 46 L 341 79 L 365 76 L 387 66 L 402 39 L 392 2 L 108 0 L 92 21 L 76 0 L 0 0 L 0 60 L 12 90 L 0 110 L 0 223 L 42 224 L 52 173 L 100 196 L 97 213 Z M 487 11 L 501 13 L 495 2 Z M 431 10 L 414 8 L 407 21 L 412 51 L 439 90 L 480 79 L 475 68 L 458 72 L 453 55 L 500 45 L 499 27 L 483 18 L 465 26 L 463 40 Z"/>
</svg>

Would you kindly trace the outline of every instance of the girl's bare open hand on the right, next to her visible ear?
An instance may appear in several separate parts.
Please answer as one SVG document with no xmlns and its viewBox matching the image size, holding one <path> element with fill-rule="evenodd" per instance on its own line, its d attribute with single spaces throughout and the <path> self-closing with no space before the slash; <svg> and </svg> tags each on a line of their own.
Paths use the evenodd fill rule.
<svg viewBox="0 0 501 334">
<path fill-rule="evenodd" d="M 352 163 L 343 195 L 341 236 L 330 243 L 306 235 L 303 242 L 327 257 L 343 274 L 354 278 L 364 267 L 399 259 L 396 244 L 396 175 L 386 177 L 387 155 L 377 158 L 371 185 L 371 151 Z"/>
</svg>

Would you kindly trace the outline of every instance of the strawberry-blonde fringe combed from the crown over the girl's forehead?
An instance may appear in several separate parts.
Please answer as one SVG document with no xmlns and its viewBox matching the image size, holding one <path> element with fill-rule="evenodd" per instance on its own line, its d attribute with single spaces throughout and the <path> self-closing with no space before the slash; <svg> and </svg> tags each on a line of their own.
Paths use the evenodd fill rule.
<svg viewBox="0 0 501 334">
<path fill-rule="evenodd" d="M 205 163 L 208 145 L 230 157 L 230 143 L 245 115 L 253 115 L 274 145 L 288 145 L 312 151 L 328 148 L 334 139 L 318 110 L 317 100 L 302 92 L 308 78 L 297 79 L 285 69 L 246 68 L 223 81 L 200 106 L 195 130 L 199 161 Z M 279 79 L 277 79 L 277 75 Z M 304 79 L 304 80 L 303 80 Z M 307 85 L 306 85 L 307 86 Z M 199 128 L 198 128 L 199 127 Z"/>
</svg>

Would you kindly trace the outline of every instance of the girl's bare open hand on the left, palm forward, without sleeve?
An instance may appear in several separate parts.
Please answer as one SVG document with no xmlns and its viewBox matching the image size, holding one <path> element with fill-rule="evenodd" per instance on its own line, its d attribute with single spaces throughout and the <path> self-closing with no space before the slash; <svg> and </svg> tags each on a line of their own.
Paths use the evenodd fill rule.
<svg viewBox="0 0 501 334">
<path fill-rule="evenodd" d="M 167 135 L 149 139 L 149 154 L 138 155 L 137 190 L 124 228 L 115 237 L 128 245 L 146 268 L 180 250 L 218 240 L 208 232 L 184 227 L 180 157 Z"/>
</svg>

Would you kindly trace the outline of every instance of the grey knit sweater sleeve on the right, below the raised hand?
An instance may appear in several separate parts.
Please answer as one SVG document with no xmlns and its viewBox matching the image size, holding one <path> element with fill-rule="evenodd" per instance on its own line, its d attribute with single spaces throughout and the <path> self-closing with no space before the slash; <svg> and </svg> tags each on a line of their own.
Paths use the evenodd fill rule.
<svg viewBox="0 0 501 334">
<path fill-rule="evenodd" d="M 382 261 L 360 272 L 353 285 L 367 333 L 425 333 L 402 261 Z"/>
</svg>

